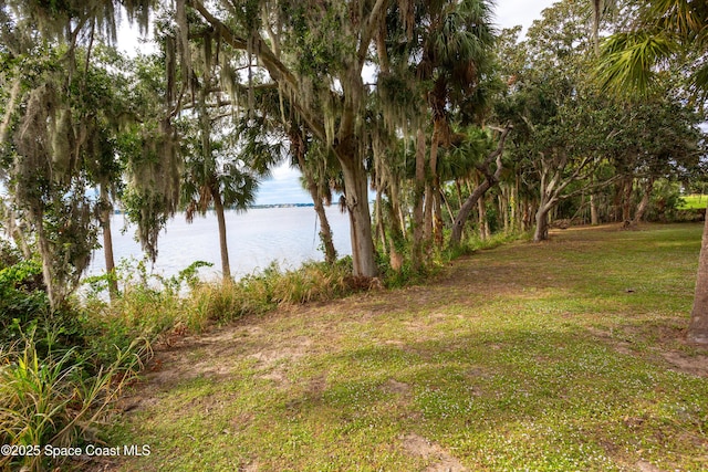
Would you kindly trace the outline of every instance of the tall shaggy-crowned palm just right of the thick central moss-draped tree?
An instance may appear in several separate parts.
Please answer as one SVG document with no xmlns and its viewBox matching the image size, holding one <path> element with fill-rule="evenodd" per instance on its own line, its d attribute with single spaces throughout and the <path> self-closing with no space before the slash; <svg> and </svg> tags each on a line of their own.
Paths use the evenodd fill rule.
<svg viewBox="0 0 708 472">
<path fill-rule="evenodd" d="M 415 129 L 413 259 L 419 266 L 423 245 L 433 235 L 442 244 L 440 148 L 451 145 L 454 113 L 478 112 L 472 108 L 480 106 L 494 35 L 487 1 L 420 1 L 399 8 L 387 15 L 376 41 L 378 95 L 385 122 Z"/>
</svg>

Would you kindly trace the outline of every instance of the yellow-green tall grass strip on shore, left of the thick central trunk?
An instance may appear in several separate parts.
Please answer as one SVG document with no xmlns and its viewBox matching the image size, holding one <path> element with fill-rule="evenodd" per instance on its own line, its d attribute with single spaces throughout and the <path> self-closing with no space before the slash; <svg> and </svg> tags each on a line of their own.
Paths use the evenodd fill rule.
<svg viewBox="0 0 708 472">
<path fill-rule="evenodd" d="M 88 319 L 104 346 L 126 339 L 164 339 L 175 327 L 200 332 L 211 323 L 259 315 L 283 304 L 331 300 L 353 291 L 347 260 L 336 264 L 309 262 L 283 271 L 277 264 L 238 281 L 200 282 L 191 264 L 169 279 L 140 271 L 122 277 L 122 292 L 107 303 L 94 291 L 86 301 Z M 92 280 L 95 283 L 95 280 Z M 108 340 L 108 342 L 106 342 Z"/>
</svg>

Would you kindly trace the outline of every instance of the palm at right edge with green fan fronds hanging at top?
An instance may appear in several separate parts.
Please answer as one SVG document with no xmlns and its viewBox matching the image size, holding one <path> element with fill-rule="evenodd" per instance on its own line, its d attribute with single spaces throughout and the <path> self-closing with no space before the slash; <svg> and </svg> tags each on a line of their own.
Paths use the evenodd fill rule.
<svg viewBox="0 0 708 472">
<path fill-rule="evenodd" d="M 601 0 L 594 0 L 600 18 Z M 598 21 L 595 21 L 597 28 Z M 688 84 L 705 108 L 708 98 L 708 2 L 650 0 L 637 12 L 626 31 L 603 43 L 597 75 L 605 87 L 650 91 L 653 81 L 666 64 L 688 70 Z M 708 344 L 708 218 L 704 229 L 696 295 L 688 327 L 688 339 Z"/>
</svg>

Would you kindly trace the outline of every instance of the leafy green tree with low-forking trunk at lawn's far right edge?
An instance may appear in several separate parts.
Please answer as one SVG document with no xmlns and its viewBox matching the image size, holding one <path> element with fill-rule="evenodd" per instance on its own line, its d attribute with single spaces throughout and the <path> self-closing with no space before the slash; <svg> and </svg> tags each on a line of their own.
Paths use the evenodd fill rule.
<svg viewBox="0 0 708 472">
<path fill-rule="evenodd" d="M 604 103 L 585 72 L 592 30 L 583 7 L 572 0 L 545 9 L 523 43 L 504 48 L 508 92 L 497 113 L 514 123 L 513 154 L 534 176 L 537 242 L 548 239 L 549 216 L 560 202 L 607 183 L 587 179 L 610 136 Z"/>
</svg>

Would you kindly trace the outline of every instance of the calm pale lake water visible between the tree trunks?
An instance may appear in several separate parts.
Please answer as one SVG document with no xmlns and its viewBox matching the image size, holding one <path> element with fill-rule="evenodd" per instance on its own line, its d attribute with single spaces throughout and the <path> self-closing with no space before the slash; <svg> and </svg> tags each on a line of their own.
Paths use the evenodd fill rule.
<svg viewBox="0 0 708 472">
<path fill-rule="evenodd" d="M 348 216 L 340 213 L 334 206 L 327 208 L 326 213 L 337 254 L 351 254 Z M 304 261 L 324 260 L 322 251 L 317 250 L 320 221 L 312 207 L 253 209 L 246 213 L 228 211 L 226 224 L 231 274 L 237 279 L 261 271 L 272 261 L 278 261 L 283 269 L 295 269 Z M 143 259 L 140 245 L 133 239 L 135 227 L 129 225 L 122 234 L 124 225 L 122 214 L 113 217 L 113 252 L 116 264 L 124 258 Z M 102 240 L 101 237 L 98 239 Z M 205 218 L 197 217 L 190 224 L 185 221 L 184 214 L 176 216 L 167 223 L 166 231 L 160 233 L 158 251 L 154 273 L 175 275 L 195 261 L 206 261 L 214 263 L 214 266 L 201 269 L 201 276 L 220 276 L 216 214 L 210 212 Z M 88 274 L 102 274 L 104 271 L 103 250 L 98 250 L 92 258 Z"/>
</svg>

